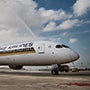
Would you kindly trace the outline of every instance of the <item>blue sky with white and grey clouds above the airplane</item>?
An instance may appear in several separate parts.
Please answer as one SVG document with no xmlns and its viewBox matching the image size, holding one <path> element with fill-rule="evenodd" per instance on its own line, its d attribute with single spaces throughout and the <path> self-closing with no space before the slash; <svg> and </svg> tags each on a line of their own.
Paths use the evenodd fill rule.
<svg viewBox="0 0 90 90">
<path fill-rule="evenodd" d="M 0 46 L 37 39 L 70 46 L 89 67 L 90 0 L 0 0 Z"/>
</svg>

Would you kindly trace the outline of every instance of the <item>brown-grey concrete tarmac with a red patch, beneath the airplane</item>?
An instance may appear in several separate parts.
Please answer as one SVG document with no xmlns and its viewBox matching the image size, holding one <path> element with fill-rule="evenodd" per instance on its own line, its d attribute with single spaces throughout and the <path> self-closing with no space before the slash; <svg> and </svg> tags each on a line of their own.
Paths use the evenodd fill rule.
<svg viewBox="0 0 90 90">
<path fill-rule="evenodd" d="M 90 90 L 90 71 L 60 72 L 0 69 L 0 90 Z"/>
</svg>

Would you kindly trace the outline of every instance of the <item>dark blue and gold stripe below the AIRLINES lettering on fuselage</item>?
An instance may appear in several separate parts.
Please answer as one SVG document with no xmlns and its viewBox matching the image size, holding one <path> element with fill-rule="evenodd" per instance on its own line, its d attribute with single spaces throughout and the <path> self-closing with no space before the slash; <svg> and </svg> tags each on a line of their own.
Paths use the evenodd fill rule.
<svg viewBox="0 0 90 90">
<path fill-rule="evenodd" d="M 9 50 L 9 51 L 0 52 L 0 56 L 29 54 L 29 53 L 36 53 L 36 51 L 34 50 L 33 47 L 32 48 L 17 49 L 17 50 Z"/>
</svg>

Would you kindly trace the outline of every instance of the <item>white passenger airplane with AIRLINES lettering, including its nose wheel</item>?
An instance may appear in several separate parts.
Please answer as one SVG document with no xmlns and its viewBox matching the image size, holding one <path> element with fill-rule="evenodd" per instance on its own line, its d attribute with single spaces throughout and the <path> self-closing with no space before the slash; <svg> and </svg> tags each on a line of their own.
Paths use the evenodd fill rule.
<svg viewBox="0 0 90 90">
<path fill-rule="evenodd" d="M 17 70 L 29 65 L 54 65 L 52 75 L 58 75 L 62 64 L 76 61 L 79 57 L 69 46 L 53 41 L 30 41 L 0 47 L 0 65 Z"/>
</svg>

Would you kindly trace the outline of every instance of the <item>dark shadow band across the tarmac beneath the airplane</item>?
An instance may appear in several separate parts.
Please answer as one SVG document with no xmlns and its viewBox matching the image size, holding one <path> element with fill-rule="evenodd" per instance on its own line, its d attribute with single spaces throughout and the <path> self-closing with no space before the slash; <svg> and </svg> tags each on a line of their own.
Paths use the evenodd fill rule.
<svg viewBox="0 0 90 90">
<path fill-rule="evenodd" d="M 59 75 L 51 75 L 50 71 L 27 71 L 27 70 L 1 70 L 0 75 L 22 75 L 22 76 L 90 76 L 90 71 L 82 72 L 59 72 Z"/>
</svg>

